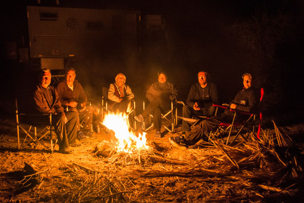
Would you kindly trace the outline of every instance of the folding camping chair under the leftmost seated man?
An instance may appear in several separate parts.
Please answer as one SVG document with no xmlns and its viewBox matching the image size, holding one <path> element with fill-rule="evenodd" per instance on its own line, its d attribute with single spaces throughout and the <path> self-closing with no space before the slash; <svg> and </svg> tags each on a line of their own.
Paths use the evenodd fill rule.
<svg viewBox="0 0 304 203">
<path fill-rule="evenodd" d="M 17 98 L 15 99 L 15 105 L 16 105 L 16 123 L 17 123 L 17 138 L 18 138 L 18 150 L 21 150 L 22 147 L 24 146 L 24 143 L 26 141 L 27 138 L 29 138 L 31 140 L 31 142 L 37 144 L 40 143 L 44 148 L 46 148 L 47 150 L 51 150 L 51 152 L 53 153 L 53 148 L 55 147 L 57 140 L 55 142 L 55 144 L 53 145 L 53 130 L 54 127 L 52 125 L 52 114 L 28 114 L 28 113 L 20 113 L 18 110 L 18 101 Z M 36 126 L 34 126 L 34 131 L 31 132 L 31 128 L 33 125 L 37 125 L 37 123 L 30 125 L 29 129 L 27 130 L 25 128 L 24 125 L 21 125 L 21 123 L 19 122 L 20 117 L 35 117 L 35 118 L 39 118 L 39 119 L 44 119 L 44 118 L 48 118 L 48 122 L 46 123 L 41 123 L 46 125 L 41 131 L 37 132 L 37 128 Z M 20 146 L 20 129 L 25 133 L 25 138 L 22 142 L 22 145 Z M 42 139 L 44 137 L 46 137 L 47 135 L 50 135 L 50 147 L 47 147 L 43 142 Z"/>
</svg>

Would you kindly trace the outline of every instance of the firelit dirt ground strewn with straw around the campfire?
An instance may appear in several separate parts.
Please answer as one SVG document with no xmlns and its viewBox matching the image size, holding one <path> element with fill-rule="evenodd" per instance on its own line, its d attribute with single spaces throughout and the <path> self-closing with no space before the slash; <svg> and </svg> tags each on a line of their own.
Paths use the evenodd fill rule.
<svg viewBox="0 0 304 203">
<path fill-rule="evenodd" d="M 2 105 L 5 107 L 5 104 Z M 176 170 L 193 170 L 191 165 L 183 164 L 183 161 L 192 160 L 194 154 L 198 153 L 179 150 L 170 145 L 168 139 L 180 133 L 180 123 L 174 134 L 162 129 L 162 138 L 154 137 L 155 130 L 150 130 L 146 134 L 148 145 L 158 147 L 157 156 L 162 156 L 162 160 L 152 161 L 152 156 L 149 156 L 145 161 L 147 156 L 144 156 L 144 153 L 141 158 L 121 160 L 109 157 L 106 159 L 95 154 L 97 144 L 103 141 L 113 143 L 115 140 L 110 133 L 106 133 L 105 129 L 101 129 L 97 139 L 80 142 L 81 146 L 75 147 L 73 154 L 58 153 L 58 145 L 51 154 L 42 145 L 29 144 L 28 141 L 22 150 L 18 150 L 16 121 L 14 115 L 7 112 L 2 111 L 0 118 L 0 202 L 303 202 L 304 200 L 302 191 L 295 191 L 292 194 L 281 192 L 280 195 L 268 195 L 265 198 L 264 194 L 267 193 L 265 190 L 254 191 L 250 187 L 236 186 L 232 179 L 223 181 L 211 170 L 206 171 L 204 176 L 191 173 L 172 175 L 170 172 Z M 273 130 L 270 120 L 271 118 L 268 118 L 268 121 L 264 121 L 264 125 Z M 304 124 L 294 123 L 280 127 L 296 143 L 300 154 L 303 154 Z M 21 139 L 24 137 L 22 133 Z M 50 145 L 48 140 L 43 140 L 43 143 Z M 207 153 L 209 150 L 208 147 L 200 148 L 200 153 Z M 138 159 L 141 160 L 140 163 Z M 36 171 L 30 172 L 27 164 Z M 29 176 L 36 172 L 40 174 Z M 93 196 L 93 193 L 87 193 L 89 186 L 86 184 L 92 181 L 90 187 L 96 189 L 98 187 L 96 180 L 107 180 L 113 187 L 115 186 L 116 191 L 108 188 L 102 198 L 96 196 L 93 199 L 85 198 L 84 194 Z M 302 177 L 300 180 L 302 182 Z M 103 182 L 103 184 L 107 183 Z M 297 188 L 301 190 L 303 187 L 298 185 Z M 109 195 L 106 196 L 107 194 Z M 70 196 L 78 196 L 78 198 Z"/>
</svg>

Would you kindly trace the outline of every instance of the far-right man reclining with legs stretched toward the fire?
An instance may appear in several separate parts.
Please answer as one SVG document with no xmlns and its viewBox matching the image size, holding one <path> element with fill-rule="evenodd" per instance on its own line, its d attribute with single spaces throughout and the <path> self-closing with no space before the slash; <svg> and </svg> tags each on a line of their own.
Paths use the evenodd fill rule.
<svg viewBox="0 0 304 203">
<path fill-rule="evenodd" d="M 252 76 L 245 73 L 243 76 L 244 88 L 238 92 L 236 97 L 230 104 L 230 108 L 226 109 L 224 113 L 213 116 L 209 119 L 203 120 L 199 125 L 195 126 L 191 131 L 186 133 L 184 136 L 176 136 L 169 138 L 171 144 L 180 149 L 187 149 L 189 145 L 195 145 L 205 136 L 205 132 L 210 132 L 218 124 L 225 122 L 232 122 L 234 112 L 230 109 L 245 111 L 248 113 L 254 113 L 258 106 L 259 96 L 253 86 L 251 86 Z M 235 121 L 242 122 L 248 115 L 237 114 Z"/>
</svg>

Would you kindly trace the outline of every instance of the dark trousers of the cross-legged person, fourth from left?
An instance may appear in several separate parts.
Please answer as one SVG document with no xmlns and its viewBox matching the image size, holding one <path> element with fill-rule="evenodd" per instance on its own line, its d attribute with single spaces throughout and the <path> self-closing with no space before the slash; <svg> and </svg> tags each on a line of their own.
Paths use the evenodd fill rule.
<svg viewBox="0 0 304 203">
<path fill-rule="evenodd" d="M 162 99 L 161 97 L 155 98 L 147 108 L 142 112 L 142 116 L 145 118 L 149 114 L 153 115 L 153 123 L 154 128 L 157 131 L 161 130 L 162 125 L 162 112 L 167 111 L 170 109 L 170 101 L 169 99 Z"/>
</svg>

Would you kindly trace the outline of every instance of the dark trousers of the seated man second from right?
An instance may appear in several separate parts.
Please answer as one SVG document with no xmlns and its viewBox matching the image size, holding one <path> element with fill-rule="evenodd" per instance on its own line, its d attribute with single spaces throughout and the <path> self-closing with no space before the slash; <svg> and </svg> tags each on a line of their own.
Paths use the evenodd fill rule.
<svg viewBox="0 0 304 203">
<path fill-rule="evenodd" d="M 214 116 L 215 109 L 216 109 L 215 107 L 211 106 L 207 110 L 201 109 L 199 111 L 195 111 L 193 107 L 185 105 L 182 107 L 182 117 L 192 118 L 192 116 L 207 116 L 208 118 L 210 118 Z M 182 120 L 181 131 L 182 132 L 190 131 L 190 124 L 185 120 Z"/>
</svg>

